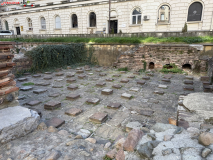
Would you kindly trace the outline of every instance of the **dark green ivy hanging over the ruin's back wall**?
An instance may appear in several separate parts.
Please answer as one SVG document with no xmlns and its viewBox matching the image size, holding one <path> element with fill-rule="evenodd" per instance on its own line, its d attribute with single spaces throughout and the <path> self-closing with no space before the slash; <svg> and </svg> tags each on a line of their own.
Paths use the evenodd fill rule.
<svg viewBox="0 0 213 160">
<path fill-rule="evenodd" d="M 83 43 L 41 45 L 26 52 L 26 56 L 32 60 L 32 72 L 76 63 L 91 63 L 91 54 Z"/>
</svg>

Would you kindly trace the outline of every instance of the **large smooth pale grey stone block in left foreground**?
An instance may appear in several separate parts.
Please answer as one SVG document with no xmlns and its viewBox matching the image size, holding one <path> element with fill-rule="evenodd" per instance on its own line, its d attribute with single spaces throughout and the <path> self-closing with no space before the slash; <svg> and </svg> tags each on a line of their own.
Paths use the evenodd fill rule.
<svg viewBox="0 0 213 160">
<path fill-rule="evenodd" d="M 0 144 L 25 136 L 35 130 L 40 116 L 37 112 L 21 106 L 0 111 Z"/>
</svg>

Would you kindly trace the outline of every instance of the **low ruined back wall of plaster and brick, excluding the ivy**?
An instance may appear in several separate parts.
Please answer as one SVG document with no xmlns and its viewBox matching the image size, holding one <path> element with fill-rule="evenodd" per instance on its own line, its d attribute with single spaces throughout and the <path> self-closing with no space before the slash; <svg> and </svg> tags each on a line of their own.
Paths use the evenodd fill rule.
<svg viewBox="0 0 213 160">
<path fill-rule="evenodd" d="M 27 50 L 39 45 L 58 45 L 67 43 L 19 43 L 15 45 L 12 52 L 25 53 Z M 192 69 L 201 72 L 207 70 L 207 60 L 200 58 L 203 52 L 213 51 L 212 44 L 188 45 L 188 44 L 86 44 L 87 47 L 93 47 L 93 60 L 100 66 L 129 67 L 130 69 L 149 69 L 150 63 L 154 68 L 161 69 L 163 65 L 175 63 L 179 68 L 184 64 L 190 65 Z M 26 57 L 15 58 L 17 66 L 14 71 L 29 69 L 31 61 Z M 210 66 L 210 65 L 209 65 Z"/>
</svg>

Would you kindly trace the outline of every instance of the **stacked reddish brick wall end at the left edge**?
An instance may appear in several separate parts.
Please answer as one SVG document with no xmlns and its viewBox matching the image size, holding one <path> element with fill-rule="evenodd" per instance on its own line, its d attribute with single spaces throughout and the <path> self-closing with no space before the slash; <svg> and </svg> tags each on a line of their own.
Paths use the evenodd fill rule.
<svg viewBox="0 0 213 160">
<path fill-rule="evenodd" d="M 19 88 L 14 81 L 15 76 L 11 73 L 15 63 L 10 49 L 12 42 L 0 42 L 0 109 L 17 105 L 17 96 Z"/>
</svg>

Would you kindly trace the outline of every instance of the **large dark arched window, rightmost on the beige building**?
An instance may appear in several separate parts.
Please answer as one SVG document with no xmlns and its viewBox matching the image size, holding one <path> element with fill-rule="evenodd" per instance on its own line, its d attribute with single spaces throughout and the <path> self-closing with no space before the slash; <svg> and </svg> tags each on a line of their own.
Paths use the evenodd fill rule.
<svg viewBox="0 0 213 160">
<path fill-rule="evenodd" d="M 188 10 L 187 21 L 201 21 L 203 5 L 200 2 L 194 2 L 190 5 Z"/>
</svg>

